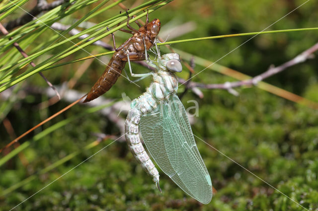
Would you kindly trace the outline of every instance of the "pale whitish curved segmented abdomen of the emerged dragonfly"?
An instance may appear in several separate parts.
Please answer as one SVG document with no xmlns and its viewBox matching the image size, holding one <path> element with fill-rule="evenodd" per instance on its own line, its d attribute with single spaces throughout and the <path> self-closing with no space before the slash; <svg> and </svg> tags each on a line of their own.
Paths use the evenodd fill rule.
<svg viewBox="0 0 318 211">
<path fill-rule="evenodd" d="M 156 106 L 156 101 L 148 93 L 144 93 L 141 97 L 135 99 L 125 122 L 125 136 L 134 157 L 141 163 L 144 170 L 153 177 L 154 182 L 158 183 L 159 172 L 139 138 L 139 121 L 142 115 L 151 112 Z"/>
</svg>

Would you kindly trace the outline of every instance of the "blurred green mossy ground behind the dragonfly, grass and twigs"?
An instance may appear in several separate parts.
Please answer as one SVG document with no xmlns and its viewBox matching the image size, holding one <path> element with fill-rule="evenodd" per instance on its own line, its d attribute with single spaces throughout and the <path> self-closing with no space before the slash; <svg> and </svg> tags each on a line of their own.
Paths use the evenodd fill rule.
<svg viewBox="0 0 318 211">
<path fill-rule="evenodd" d="M 180 24 L 193 21 L 196 24 L 195 31 L 175 40 L 254 32 L 263 30 L 303 2 L 305 1 L 174 0 L 151 13 L 150 19 L 159 18 L 162 30 L 170 21 Z M 127 0 L 123 3 L 130 7 L 134 1 Z M 34 2 L 30 1 L 23 8 L 29 10 L 33 5 Z M 62 22 L 67 24 L 80 18 L 94 5 L 81 9 Z M 98 23 L 118 14 L 119 10 L 122 9 L 114 7 L 90 21 Z M 14 19 L 22 13 L 21 10 L 16 10 L 5 20 Z M 317 19 L 318 4 L 312 0 L 268 30 L 317 27 Z M 53 33 L 46 31 L 25 51 L 36 47 Z M 117 32 L 117 45 L 128 37 L 129 35 Z M 249 38 L 223 38 L 175 44 L 171 47 L 212 62 Z M 218 63 L 255 76 L 267 70 L 271 64 L 280 65 L 310 48 L 317 42 L 316 38 L 317 31 L 258 35 Z M 112 43 L 110 36 L 103 40 Z M 96 46 L 85 49 L 95 53 L 105 51 Z M 166 51 L 165 47 L 162 50 Z M 35 63 L 54 53 L 52 51 L 43 55 Z M 83 56 L 87 56 L 87 53 L 79 51 L 67 59 Z M 108 58 L 102 60 L 107 62 Z M 74 76 L 80 64 L 81 62 L 65 65 L 44 74 L 54 85 L 61 85 Z M 266 79 L 266 82 L 318 102 L 317 66 L 317 58 L 311 59 Z M 195 71 L 199 72 L 203 68 L 197 65 Z M 138 73 L 148 71 L 136 64 L 133 69 Z M 88 92 L 103 71 L 104 65 L 95 59 L 74 89 Z M 187 69 L 184 68 L 180 76 L 187 78 L 187 75 Z M 193 79 L 201 83 L 224 83 L 232 80 L 209 69 Z M 121 77 L 104 97 L 120 99 L 124 92 L 134 99 L 145 91 L 149 82 L 149 79 L 140 81 L 138 84 L 141 87 L 137 87 Z M 26 79 L 21 89 L 27 86 L 43 89 L 47 87 L 39 75 Z M 180 92 L 183 89 L 181 86 Z M 192 125 L 193 133 L 305 208 L 318 210 L 318 111 L 255 87 L 237 90 L 239 97 L 224 90 L 202 90 L 203 99 L 189 91 L 182 99 L 184 106 L 193 106 L 187 103 L 188 100 L 199 103 L 199 116 Z M 12 106 L 6 118 L 11 122 L 16 135 L 24 133 L 69 104 L 62 100 L 53 106 L 39 108 L 39 104 L 47 98 L 45 95 L 28 93 Z M 95 112 L 32 142 L 32 138 L 42 130 L 78 115 L 86 108 L 83 104 L 76 105 L 20 140 L 20 144 L 31 141 L 31 146 L 22 152 L 27 164 L 23 165 L 21 158 L 15 156 L 0 167 L 0 193 L 67 155 L 81 151 L 84 146 L 96 140 L 93 133 L 119 134 L 119 129 L 113 122 Z M 122 117 L 125 118 L 124 115 Z M 0 147 L 11 140 L 3 124 L 0 124 Z M 37 175 L 36 179 L 21 188 L 0 197 L 0 210 L 9 210 L 16 206 L 111 142 L 112 140 L 106 140 L 89 150 L 83 150 L 66 163 Z M 202 205 L 187 196 L 159 170 L 162 189 L 160 194 L 152 179 L 128 151 L 126 143 L 115 142 L 41 190 L 16 210 L 303 210 L 220 152 L 199 139 L 196 142 L 217 191 L 208 205 Z"/>
</svg>

